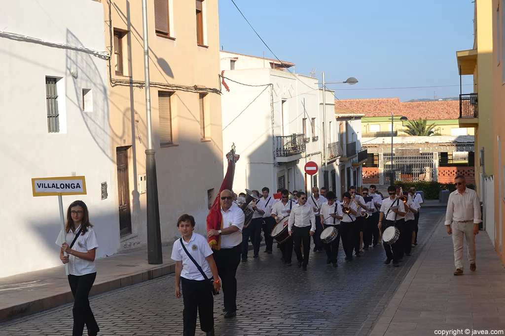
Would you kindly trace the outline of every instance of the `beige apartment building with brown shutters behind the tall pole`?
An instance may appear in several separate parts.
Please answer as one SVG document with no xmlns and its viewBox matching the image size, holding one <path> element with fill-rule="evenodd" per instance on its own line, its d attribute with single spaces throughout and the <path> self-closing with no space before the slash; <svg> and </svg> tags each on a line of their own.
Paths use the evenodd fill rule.
<svg viewBox="0 0 505 336">
<path fill-rule="evenodd" d="M 147 147 L 140 1 L 103 0 L 108 64 L 111 164 L 117 166 L 120 249 L 146 244 Z M 162 241 L 177 218 L 206 231 L 209 204 L 223 179 L 216 1 L 147 0 L 150 98 Z M 226 148 L 231 144 L 226 144 Z M 99 169 L 99 167 L 97 167 Z"/>
</svg>

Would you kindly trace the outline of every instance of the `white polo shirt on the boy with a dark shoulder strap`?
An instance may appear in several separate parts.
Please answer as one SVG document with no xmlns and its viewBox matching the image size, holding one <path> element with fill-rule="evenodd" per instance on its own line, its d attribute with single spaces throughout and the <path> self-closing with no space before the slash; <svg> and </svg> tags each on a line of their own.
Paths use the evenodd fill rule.
<svg viewBox="0 0 505 336">
<path fill-rule="evenodd" d="M 212 249 L 209 246 L 207 239 L 204 238 L 204 236 L 193 232 L 189 242 L 186 243 L 183 238 L 182 243 L 189 254 L 191 254 L 194 260 L 200 265 L 201 270 L 204 271 L 207 278 L 211 279 L 212 271 L 206 257 L 212 254 Z M 182 261 L 181 277 L 184 279 L 205 280 L 204 276 L 201 275 L 200 271 L 198 271 L 194 262 L 191 261 L 187 253 L 182 248 L 180 239 L 177 239 L 172 247 L 172 260 Z"/>
</svg>

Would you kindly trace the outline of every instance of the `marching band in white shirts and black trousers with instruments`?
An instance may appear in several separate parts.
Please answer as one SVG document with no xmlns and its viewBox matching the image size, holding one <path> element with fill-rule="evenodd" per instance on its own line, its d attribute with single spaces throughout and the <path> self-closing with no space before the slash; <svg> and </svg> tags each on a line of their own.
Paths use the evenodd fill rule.
<svg viewBox="0 0 505 336">
<path fill-rule="evenodd" d="M 233 203 L 253 213 L 252 228 L 244 225 L 242 231 L 242 262 L 247 261 L 249 238 L 254 246 L 254 257 L 259 257 L 262 230 L 266 253 L 272 253 L 275 240 L 283 263 L 291 266 L 294 248 L 297 266 L 304 271 L 309 263 L 311 236 L 313 251 L 322 253 L 325 250 L 326 263 L 334 267 L 338 267 L 340 240 L 346 261 L 361 257 L 370 247 L 382 244 L 386 254 L 384 263 L 392 261 L 395 267 L 403 256 L 410 256 L 416 246 L 422 197 L 415 188 L 405 192 L 401 185 L 390 186 L 388 197 L 383 199 L 373 184 L 369 188 L 363 187 L 361 194 L 351 186 L 342 195 L 342 202 L 337 200 L 333 191 L 324 187 L 321 194 L 319 188 L 314 187 L 312 195 L 278 189 L 274 197 L 264 187 L 261 198 L 256 190 L 245 191 L 238 198 L 234 195 Z M 247 218 L 247 211 L 244 213 Z"/>
</svg>

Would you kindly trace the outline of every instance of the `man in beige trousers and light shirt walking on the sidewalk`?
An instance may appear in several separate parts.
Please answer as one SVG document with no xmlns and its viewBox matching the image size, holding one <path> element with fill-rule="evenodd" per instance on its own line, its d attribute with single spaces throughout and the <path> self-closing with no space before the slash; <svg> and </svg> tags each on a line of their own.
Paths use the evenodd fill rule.
<svg viewBox="0 0 505 336">
<path fill-rule="evenodd" d="M 479 223 L 482 221 L 477 192 L 466 187 L 467 183 L 463 175 L 456 176 L 454 182 L 456 190 L 450 193 L 447 201 L 445 225 L 447 233 L 452 234 L 452 244 L 454 245 L 454 263 L 456 265 L 454 275 L 461 276 L 464 266 L 463 235 L 467 240 L 470 271 L 473 272 L 477 269 L 475 236 L 479 234 Z"/>
</svg>

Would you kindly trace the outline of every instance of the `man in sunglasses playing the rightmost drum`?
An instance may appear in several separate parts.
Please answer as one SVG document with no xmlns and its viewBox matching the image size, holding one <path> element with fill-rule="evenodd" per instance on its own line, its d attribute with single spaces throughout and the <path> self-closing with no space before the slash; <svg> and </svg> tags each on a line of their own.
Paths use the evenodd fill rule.
<svg viewBox="0 0 505 336">
<path fill-rule="evenodd" d="M 396 187 L 394 185 L 390 185 L 387 187 L 387 193 L 389 194 L 388 198 L 382 200 L 382 206 L 380 208 L 380 217 L 379 217 L 379 230 L 382 230 L 382 233 L 390 227 L 394 226 L 400 231 L 400 236 L 393 244 L 383 243 L 384 250 L 386 251 L 386 261 L 384 263 L 386 265 L 393 261 L 393 266 L 399 266 L 399 260 L 401 259 L 402 251 L 402 243 L 403 239 L 405 239 L 404 226 L 403 226 L 403 218 L 405 218 L 405 206 L 403 202 L 396 197 Z M 402 236 L 403 233 L 403 236 Z"/>
</svg>

